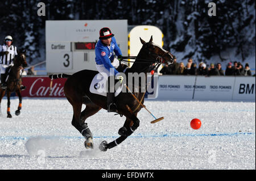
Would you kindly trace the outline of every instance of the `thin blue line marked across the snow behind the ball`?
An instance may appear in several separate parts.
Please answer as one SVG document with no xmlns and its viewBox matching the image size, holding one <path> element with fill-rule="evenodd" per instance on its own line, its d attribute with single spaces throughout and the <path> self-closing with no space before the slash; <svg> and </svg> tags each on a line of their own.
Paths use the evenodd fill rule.
<svg viewBox="0 0 256 181">
<path fill-rule="evenodd" d="M 156 134 L 143 136 L 141 134 L 137 136 L 130 136 L 129 138 L 162 138 L 162 137 L 200 137 L 200 136 L 248 136 L 255 135 L 255 133 L 202 133 L 202 134 Z M 94 136 L 93 138 L 118 138 L 119 136 Z M 14 136 L 2 136 L 0 140 L 29 140 L 30 138 L 43 138 L 43 139 L 84 139 L 80 136 L 31 136 L 31 137 L 14 137 Z"/>
</svg>

